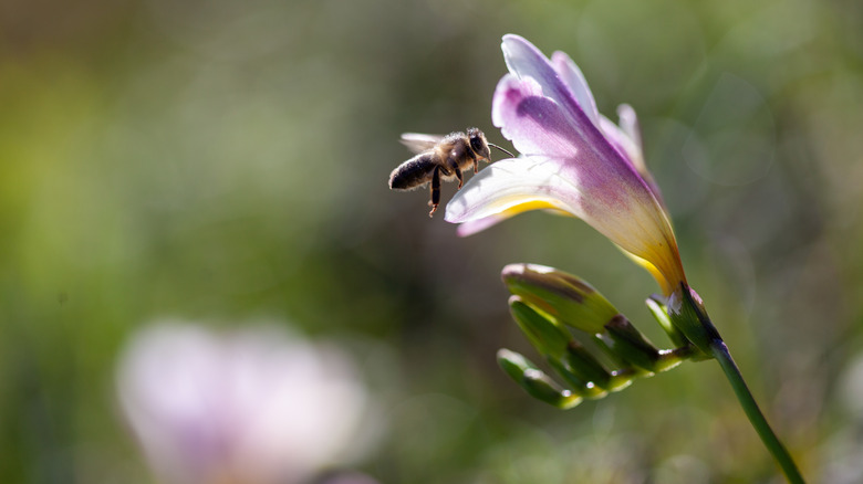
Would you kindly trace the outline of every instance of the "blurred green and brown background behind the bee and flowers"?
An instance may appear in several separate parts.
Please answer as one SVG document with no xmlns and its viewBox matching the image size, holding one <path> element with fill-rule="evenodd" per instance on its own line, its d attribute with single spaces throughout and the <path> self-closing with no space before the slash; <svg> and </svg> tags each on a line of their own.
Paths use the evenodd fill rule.
<svg viewBox="0 0 863 484">
<path fill-rule="evenodd" d="M 114 397 L 148 320 L 342 341 L 382 483 L 781 482 L 715 362 L 568 412 L 500 269 L 553 265 L 654 341 L 649 276 L 580 221 L 467 239 L 387 189 L 403 131 L 490 123 L 500 36 L 640 114 L 689 282 L 812 482 L 863 480 L 863 3 L 11 0 L 0 6 L 0 482 L 146 483 Z M 444 200 L 455 191 L 444 188 Z M 855 366 L 856 365 L 856 366 Z"/>
</svg>

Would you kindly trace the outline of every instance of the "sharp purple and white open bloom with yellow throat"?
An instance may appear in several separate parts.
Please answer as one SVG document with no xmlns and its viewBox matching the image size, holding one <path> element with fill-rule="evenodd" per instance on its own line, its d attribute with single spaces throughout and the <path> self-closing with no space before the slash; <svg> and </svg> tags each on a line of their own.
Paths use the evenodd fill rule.
<svg viewBox="0 0 863 484">
<path fill-rule="evenodd" d="M 647 269 L 669 295 L 685 283 L 662 196 L 644 166 L 635 112 L 615 125 L 596 111 L 579 67 L 506 35 L 509 74 L 498 83 L 491 119 L 521 157 L 489 166 L 447 206 L 462 235 L 533 209 L 578 217 Z"/>
</svg>

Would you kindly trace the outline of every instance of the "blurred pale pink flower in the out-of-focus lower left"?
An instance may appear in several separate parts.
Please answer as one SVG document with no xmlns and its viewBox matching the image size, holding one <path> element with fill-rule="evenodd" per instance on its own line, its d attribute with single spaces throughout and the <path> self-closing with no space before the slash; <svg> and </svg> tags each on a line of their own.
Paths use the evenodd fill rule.
<svg viewBox="0 0 863 484">
<path fill-rule="evenodd" d="M 367 403 L 346 355 L 277 327 L 156 324 L 126 349 L 117 387 L 171 484 L 301 482 L 357 446 Z"/>
</svg>

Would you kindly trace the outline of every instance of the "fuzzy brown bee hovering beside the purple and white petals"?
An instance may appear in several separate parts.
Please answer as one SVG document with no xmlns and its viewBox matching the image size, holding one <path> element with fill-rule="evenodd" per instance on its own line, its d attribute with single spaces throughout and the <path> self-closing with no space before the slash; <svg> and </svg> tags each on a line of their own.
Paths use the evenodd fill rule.
<svg viewBox="0 0 863 484">
<path fill-rule="evenodd" d="M 477 128 L 446 136 L 405 133 L 402 135 L 402 143 L 417 155 L 389 173 L 389 188 L 413 190 L 430 181 L 432 200 L 428 204 L 432 206 L 432 211 L 428 217 L 435 214 L 440 203 L 440 180 L 458 180 L 458 188 L 461 188 L 465 182 L 462 170 L 472 166 L 476 173 L 479 171 L 480 160 L 491 162 L 490 146 L 512 156 L 506 149 L 488 143 L 486 135 Z"/>
</svg>

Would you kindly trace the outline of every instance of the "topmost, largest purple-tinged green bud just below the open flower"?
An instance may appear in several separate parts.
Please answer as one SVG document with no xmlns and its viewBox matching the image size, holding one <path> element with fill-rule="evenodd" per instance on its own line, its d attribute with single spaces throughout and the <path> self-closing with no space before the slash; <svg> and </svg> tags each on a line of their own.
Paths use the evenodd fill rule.
<svg viewBox="0 0 863 484">
<path fill-rule="evenodd" d="M 526 304 L 558 324 L 588 334 L 604 332 L 617 309 L 590 284 L 579 277 L 537 264 L 510 264 L 501 273 L 503 283 Z"/>
</svg>

